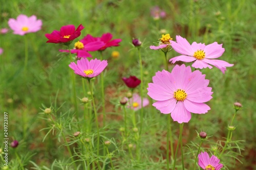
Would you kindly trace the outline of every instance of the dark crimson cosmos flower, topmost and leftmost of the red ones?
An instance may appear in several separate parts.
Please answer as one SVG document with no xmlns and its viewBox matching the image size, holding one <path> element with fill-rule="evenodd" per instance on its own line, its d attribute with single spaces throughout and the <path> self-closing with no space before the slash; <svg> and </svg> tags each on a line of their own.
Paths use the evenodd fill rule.
<svg viewBox="0 0 256 170">
<path fill-rule="evenodd" d="M 81 30 L 84 27 L 80 24 L 77 29 L 74 25 L 67 25 L 60 28 L 60 31 L 54 30 L 51 34 L 45 34 L 49 40 L 46 42 L 51 43 L 64 43 L 69 45 L 72 40 L 81 35 Z"/>
</svg>

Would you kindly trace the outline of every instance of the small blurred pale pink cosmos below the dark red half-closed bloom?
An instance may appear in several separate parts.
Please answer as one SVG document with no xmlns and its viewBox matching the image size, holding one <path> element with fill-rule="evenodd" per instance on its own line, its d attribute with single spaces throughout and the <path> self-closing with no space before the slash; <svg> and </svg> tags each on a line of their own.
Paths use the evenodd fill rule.
<svg viewBox="0 0 256 170">
<path fill-rule="evenodd" d="M 127 108 L 131 108 L 135 111 L 141 109 L 141 107 L 145 107 L 150 104 L 150 101 L 147 98 L 143 98 L 143 102 L 141 104 L 141 97 L 137 93 L 134 93 L 131 99 L 125 99 L 128 101 L 127 103 L 129 104 L 127 105 Z"/>
</svg>

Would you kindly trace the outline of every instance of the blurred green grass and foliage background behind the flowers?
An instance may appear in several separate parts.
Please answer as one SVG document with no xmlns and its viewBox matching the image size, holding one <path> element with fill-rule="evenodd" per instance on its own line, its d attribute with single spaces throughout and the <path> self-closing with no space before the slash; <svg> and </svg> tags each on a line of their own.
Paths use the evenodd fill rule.
<svg viewBox="0 0 256 170">
<path fill-rule="evenodd" d="M 154 20 L 150 15 L 150 9 L 159 6 L 166 11 L 167 16 L 163 19 Z M 106 138 L 101 136 L 101 141 L 111 140 L 109 151 L 112 153 L 112 160 L 115 169 L 166 169 L 166 116 L 160 114 L 154 107 L 144 108 L 144 127 L 140 140 L 136 138 L 136 132 L 132 131 L 131 111 L 128 110 L 127 126 L 129 138 L 122 140 L 119 129 L 123 126 L 123 112 L 119 101 L 128 92 L 122 82 L 122 77 L 136 75 L 140 78 L 139 57 L 137 50 L 131 45 L 132 38 L 140 38 L 143 41 L 141 47 L 142 63 L 144 71 L 144 94 L 147 93 L 147 83 L 152 82 L 152 77 L 158 70 L 164 69 L 164 54 L 150 50 L 149 46 L 161 37 L 163 32 L 169 33 L 174 39 L 176 35 L 185 37 L 190 43 L 204 42 L 209 44 L 217 41 L 223 43 L 225 53 L 220 58 L 233 67 L 228 67 L 225 75 L 217 68 L 203 69 L 206 79 L 210 80 L 213 99 L 208 102 L 211 107 L 209 113 L 204 115 L 193 114 L 190 122 L 184 125 L 183 130 L 183 151 L 185 167 L 193 167 L 193 153 L 197 151 L 200 140 L 198 132 L 205 131 L 212 136 L 204 142 L 203 150 L 215 153 L 212 147 L 218 140 L 224 140 L 227 136 L 227 125 L 230 124 L 234 113 L 233 103 L 240 102 L 243 109 L 238 111 L 233 132 L 233 141 L 245 140 L 237 148 L 226 153 L 221 159 L 225 164 L 223 169 L 253 169 L 255 168 L 255 72 L 256 50 L 255 50 L 255 15 L 256 6 L 253 1 L 15 1 L 11 0 L 1 5 L 0 28 L 8 28 L 8 19 L 16 18 L 19 14 L 28 16 L 36 15 L 43 22 L 42 29 L 36 33 L 26 35 L 29 45 L 29 60 L 26 74 L 24 74 L 25 44 L 24 36 L 14 35 L 9 30 L 7 34 L 0 35 L 0 47 L 4 49 L 1 57 L 0 67 L 0 107 L 2 112 L 8 112 L 8 136 L 9 142 L 18 140 L 19 145 L 16 152 L 27 169 L 71 169 L 72 162 L 67 150 L 67 144 L 78 169 L 83 169 L 84 162 L 95 162 L 97 159 L 105 169 L 111 169 L 110 155 L 103 155 L 102 147 L 100 156 L 77 153 L 81 150 L 87 151 L 83 146 L 94 149 L 88 142 L 82 144 L 73 134 L 78 129 L 74 105 L 72 104 L 72 86 L 70 80 L 69 56 L 59 53 L 64 49 L 61 44 L 46 43 L 46 33 L 59 30 L 63 25 L 75 25 L 82 23 L 85 27 L 81 32 L 82 38 L 87 34 L 101 36 L 110 32 L 114 38 L 121 38 L 122 42 L 118 47 L 108 48 L 103 52 L 103 59 L 108 60 L 108 67 L 104 71 L 105 99 L 106 99 L 106 127 L 102 127 L 101 114 L 101 91 L 100 78 L 94 82 L 94 96 L 99 113 L 100 134 L 106 133 Z M 161 30 L 161 31 L 160 31 Z M 120 57 L 113 59 L 112 51 L 118 51 Z M 100 58 L 98 52 L 91 53 L 94 58 Z M 178 56 L 172 51 L 167 58 Z M 189 65 L 189 64 L 186 64 Z M 174 65 L 169 64 L 169 68 Z M 89 86 L 86 82 L 86 93 L 82 88 L 82 81 L 76 77 L 76 93 L 78 98 L 87 94 Z M 139 88 L 135 89 L 139 92 Z M 148 99 L 150 99 L 147 96 Z M 83 116 L 84 104 L 79 100 L 79 115 Z M 152 101 L 151 101 L 152 102 Z M 40 108 L 42 104 L 49 108 L 52 106 L 56 111 L 54 121 L 61 125 L 55 125 L 54 132 L 46 136 L 48 130 L 41 130 L 52 127 L 48 120 L 50 117 L 43 114 Z M 90 104 L 86 108 L 92 110 Z M 93 113 L 93 112 L 92 112 Z M 137 113 L 137 112 L 136 112 Z M 138 111 L 139 113 L 139 111 Z M 62 115 L 62 116 L 60 116 Z M 92 114 L 93 115 L 93 114 Z M 92 117 L 93 119 L 94 117 Z M 137 116 L 139 119 L 140 117 Z M 1 116 L 2 121 L 2 116 Z M 83 125 L 84 119 L 79 120 Z M 139 125 L 139 124 L 138 124 Z M 3 129 L 2 124 L 0 124 Z M 139 127 L 139 126 L 138 126 Z M 58 129 L 60 131 L 58 131 Z M 41 131 L 40 131 L 41 130 Z M 175 145 L 179 136 L 179 124 L 172 126 Z M 63 141 L 61 133 L 66 136 L 67 143 Z M 3 132 L 4 133 L 4 132 Z M 1 133 L 1 138 L 3 137 Z M 96 129 L 92 133 L 82 133 L 81 138 L 95 139 Z M 46 137 L 45 137 L 46 136 Z M 43 139 L 45 140 L 43 141 Z M 131 148 L 127 147 L 132 144 Z M 139 145 L 141 159 L 136 159 L 136 147 Z M 0 145 L 1 146 L 1 145 Z M 237 145 L 236 145 L 237 146 Z M 221 146 L 219 146 L 220 149 Z M 175 147 L 176 148 L 176 147 Z M 207 148 L 209 150 L 207 150 Z M 234 160 L 229 156 L 233 153 L 241 160 Z M 3 149 L 3 145 L 2 145 Z M 131 150 L 131 154 L 129 154 Z M 9 169 L 20 169 L 19 160 L 15 156 L 14 149 L 9 148 Z M 138 153 L 137 153 L 138 154 Z M 133 155 L 134 159 L 132 159 Z M 177 168 L 181 169 L 181 158 L 177 160 Z M 85 161 L 85 163 L 88 163 Z M 172 162 L 172 161 L 171 161 Z M 0 166 L 2 166 L 1 164 Z M 91 167 L 97 169 L 97 163 Z M 170 165 L 172 167 L 172 165 Z M 199 167 L 198 167 L 199 169 Z"/>
</svg>

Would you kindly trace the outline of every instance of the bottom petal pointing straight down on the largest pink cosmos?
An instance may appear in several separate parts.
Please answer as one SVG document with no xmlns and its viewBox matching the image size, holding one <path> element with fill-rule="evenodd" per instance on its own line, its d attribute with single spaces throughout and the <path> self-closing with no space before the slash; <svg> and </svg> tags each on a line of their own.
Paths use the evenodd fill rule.
<svg viewBox="0 0 256 170">
<path fill-rule="evenodd" d="M 170 116 L 172 116 L 174 121 L 177 121 L 179 124 L 188 123 L 188 121 L 191 119 L 191 113 L 186 110 L 183 102 L 178 102 L 176 104 Z"/>
</svg>

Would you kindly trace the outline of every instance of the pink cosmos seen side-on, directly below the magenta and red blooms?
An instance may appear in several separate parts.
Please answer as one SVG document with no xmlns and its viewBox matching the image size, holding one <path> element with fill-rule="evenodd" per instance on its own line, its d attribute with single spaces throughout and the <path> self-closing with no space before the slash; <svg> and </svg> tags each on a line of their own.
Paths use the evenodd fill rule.
<svg viewBox="0 0 256 170">
<path fill-rule="evenodd" d="M 91 79 L 98 76 L 108 65 L 108 61 L 106 60 L 88 60 L 87 58 L 81 58 L 77 60 L 77 64 L 71 62 L 69 64 L 70 68 L 72 68 L 76 75 L 79 75 L 83 78 Z"/>
</svg>

